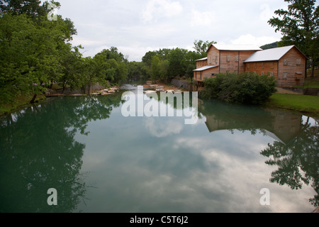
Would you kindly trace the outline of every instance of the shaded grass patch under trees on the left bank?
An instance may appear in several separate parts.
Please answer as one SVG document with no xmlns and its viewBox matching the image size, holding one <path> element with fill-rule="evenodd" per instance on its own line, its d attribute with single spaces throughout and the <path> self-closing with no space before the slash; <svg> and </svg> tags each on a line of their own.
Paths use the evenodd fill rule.
<svg viewBox="0 0 319 227">
<path fill-rule="evenodd" d="M 5 114 L 9 114 L 12 111 L 15 111 L 16 109 L 18 109 L 21 106 L 25 106 L 27 104 L 30 104 L 30 101 L 32 99 L 33 95 L 29 94 L 29 95 L 21 95 L 16 97 L 15 101 L 13 101 L 10 104 L 4 104 L 4 105 L 0 105 L 0 116 L 3 116 Z M 43 95 L 38 95 L 37 98 L 35 99 L 36 101 L 41 101 L 45 99 L 45 96 Z"/>
</svg>

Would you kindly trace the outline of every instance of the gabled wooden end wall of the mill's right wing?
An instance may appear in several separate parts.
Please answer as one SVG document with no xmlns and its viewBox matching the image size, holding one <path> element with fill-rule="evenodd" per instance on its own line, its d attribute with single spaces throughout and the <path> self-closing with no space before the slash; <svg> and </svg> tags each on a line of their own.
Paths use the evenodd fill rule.
<svg viewBox="0 0 319 227">
<path fill-rule="evenodd" d="M 306 57 L 296 48 L 279 60 L 279 87 L 303 86 L 305 83 Z"/>
</svg>

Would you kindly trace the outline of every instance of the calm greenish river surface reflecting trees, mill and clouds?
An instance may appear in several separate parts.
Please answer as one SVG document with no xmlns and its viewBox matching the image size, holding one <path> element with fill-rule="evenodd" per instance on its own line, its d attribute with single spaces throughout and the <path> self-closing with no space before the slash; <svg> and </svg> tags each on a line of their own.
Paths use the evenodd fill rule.
<svg viewBox="0 0 319 227">
<path fill-rule="evenodd" d="M 198 122 L 128 117 L 121 92 L 62 97 L 1 119 L 1 212 L 311 212 L 318 122 L 200 101 Z M 169 105 L 169 108 L 173 108 Z M 174 106 L 174 105 L 173 105 Z M 47 189 L 57 189 L 57 206 Z M 270 192 L 262 206 L 260 190 Z"/>
</svg>

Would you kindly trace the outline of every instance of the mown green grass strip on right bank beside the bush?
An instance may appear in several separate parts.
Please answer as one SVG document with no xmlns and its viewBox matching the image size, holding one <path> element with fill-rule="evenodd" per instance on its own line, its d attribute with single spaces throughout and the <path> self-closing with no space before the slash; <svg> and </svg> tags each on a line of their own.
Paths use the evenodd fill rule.
<svg viewBox="0 0 319 227">
<path fill-rule="evenodd" d="M 271 108 L 289 109 L 311 116 L 319 116 L 319 96 L 298 94 L 274 94 L 265 104 Z"/>
</svg>

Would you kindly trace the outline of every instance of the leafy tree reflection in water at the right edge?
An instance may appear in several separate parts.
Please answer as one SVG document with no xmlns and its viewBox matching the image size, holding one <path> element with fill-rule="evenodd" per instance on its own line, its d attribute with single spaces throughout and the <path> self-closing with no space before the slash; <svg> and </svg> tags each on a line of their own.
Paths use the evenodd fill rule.
<svg viewBox="0 0 319 227">
<path fill-rule="evenodd" d="M 291 189 L 301 189 L 303 184 L 311 184 L 317 193 L 309 199 L 315 207 L 319 205 L 319 126 L 309 123 L 309 118 L 301 124 L 301 132 L 289 141 L 275 141 L 262 150 L 262 155 L 270 157 L 267 165 L 277 166 L 270 182 L 287 184 Z"/>
</svg>

